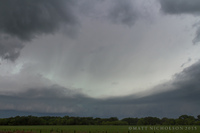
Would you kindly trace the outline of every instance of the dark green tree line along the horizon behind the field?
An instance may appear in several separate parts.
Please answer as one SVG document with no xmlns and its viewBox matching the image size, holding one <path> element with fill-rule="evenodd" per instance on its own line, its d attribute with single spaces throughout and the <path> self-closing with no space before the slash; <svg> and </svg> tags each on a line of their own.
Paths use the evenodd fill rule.
<svg viewBox="0 0 200 133">
<path fill-rule="evenodd" d="M 53 116 L 16 116 L 1 118 L 0 125 L 200 125 L 200 115 L 181 115 L 179 118 L 124 118 L 117 117 L 93 118 L 93 117 L 53 117 Z"/>
</svg>

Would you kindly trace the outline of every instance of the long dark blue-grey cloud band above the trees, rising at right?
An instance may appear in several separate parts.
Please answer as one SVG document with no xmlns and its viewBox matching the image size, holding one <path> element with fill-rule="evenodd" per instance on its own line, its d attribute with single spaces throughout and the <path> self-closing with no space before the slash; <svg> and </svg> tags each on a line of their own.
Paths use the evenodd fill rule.
<svg viewBox="0 0 200 133">
<path fill-rule="evenodd" d="M 200 107 L 200 61 L 174 76 L 171 82 L 159 85 L 167 90 L 136 97 L 96 99 L 79 91 L 54 85 L 32 88 L 19 93 L 2 93 L 1 110 L 12 109 L 41 113 L 70 113 L 95 117 L 177 117 L 182 114 L 198 115 Z M 166 87 L 165 87 L 166 88 Z"/>
</svg>

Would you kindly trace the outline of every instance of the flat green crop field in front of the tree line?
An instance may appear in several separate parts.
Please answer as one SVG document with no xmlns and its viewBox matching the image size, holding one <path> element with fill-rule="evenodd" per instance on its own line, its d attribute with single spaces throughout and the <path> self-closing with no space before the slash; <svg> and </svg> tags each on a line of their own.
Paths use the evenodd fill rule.
<svg viewBox="0 0 200 133">
<path fill-rule="evenodd" d="M 0 133 L 200 133 L 200 126 L 0 126 Z"/>
</svg>

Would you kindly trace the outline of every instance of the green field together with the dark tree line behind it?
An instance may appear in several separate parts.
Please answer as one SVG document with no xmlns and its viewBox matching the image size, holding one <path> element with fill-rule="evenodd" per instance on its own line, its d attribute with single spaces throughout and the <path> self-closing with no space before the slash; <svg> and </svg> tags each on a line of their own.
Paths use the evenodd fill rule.
<svg viewBox="0 0 200 133">
<path fill-rule="evenodd" d="M 93 118 L 71 116 L 16 116 L 0 118 L 0 133 L 199 133 L 196 118 Z"/>
</svg>

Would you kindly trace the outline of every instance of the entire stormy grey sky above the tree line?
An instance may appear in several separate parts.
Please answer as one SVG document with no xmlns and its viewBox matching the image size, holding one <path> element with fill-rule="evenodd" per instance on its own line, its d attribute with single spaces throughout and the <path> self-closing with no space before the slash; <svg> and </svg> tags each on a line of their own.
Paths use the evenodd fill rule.
<svg viewBox="0 0 200 133">
<path fill-rule="evenodd" d="M 0 117 L 199 115 L 199 16 L 199 0 L 1 0 Z"/>
</svg>

